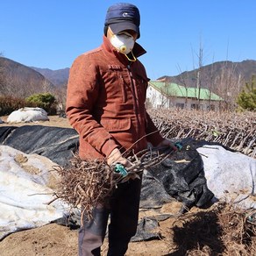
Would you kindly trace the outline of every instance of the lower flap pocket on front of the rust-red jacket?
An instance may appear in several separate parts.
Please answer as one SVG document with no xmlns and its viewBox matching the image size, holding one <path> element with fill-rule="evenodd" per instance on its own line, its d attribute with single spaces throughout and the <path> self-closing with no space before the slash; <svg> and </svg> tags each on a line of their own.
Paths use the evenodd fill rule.
<svg viewBox="0 0 256 256">
<path fill-rule="evenodd" d="M 104 118 L 101 120 L 101 124 L 108 132 L 124 132 L 131 128 L 131 119 L 109 119 Z"/>
</svg>

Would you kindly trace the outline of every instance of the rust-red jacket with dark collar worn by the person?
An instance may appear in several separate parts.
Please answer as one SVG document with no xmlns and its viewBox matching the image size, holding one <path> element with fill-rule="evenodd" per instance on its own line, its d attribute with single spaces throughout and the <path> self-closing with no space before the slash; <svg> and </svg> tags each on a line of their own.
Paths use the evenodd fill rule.
<svg viewBox="0 0 256 256">
<path fill-rule="evenodd" d="M 136 43 L 133 53 L 146 52 Z M 66 111 L 80 135 L 82 159 L 103 159 L 116 147 L 138 153 L 147 141 L 156 146 L 163 140 L 146 112 L 148 81 L 141 62 L 117 53 L 106 37 L 102 46 L 75 59 Z"/>
</svg>

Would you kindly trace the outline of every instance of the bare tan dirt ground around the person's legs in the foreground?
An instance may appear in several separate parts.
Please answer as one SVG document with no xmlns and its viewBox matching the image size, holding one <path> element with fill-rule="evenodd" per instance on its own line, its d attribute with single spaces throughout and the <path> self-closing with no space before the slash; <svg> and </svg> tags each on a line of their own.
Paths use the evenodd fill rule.
<svg viewBox="0 0 256 256">
<path fill-rule="evenodd" d="M 146 214 L 149 213 L 147 212 Z M 171 255 L 169 253 L 174 249 L 172 241 L 173 223 L 174 218 L 160 222 L 160 234 L 162 238 L 152 241 L 131 242 L 126 255 Z M 60 224 L 47 224 L 32 230 L 19 231 L 4 238 L 0 242 L 0 255 L 77 255 L 77 236 L 78 230 L 72 231 L 68 227 Z M 106 238 L 102 248 L 102 255 L 106 255 L 107 246 L 108 240 Z"/>
</svg>

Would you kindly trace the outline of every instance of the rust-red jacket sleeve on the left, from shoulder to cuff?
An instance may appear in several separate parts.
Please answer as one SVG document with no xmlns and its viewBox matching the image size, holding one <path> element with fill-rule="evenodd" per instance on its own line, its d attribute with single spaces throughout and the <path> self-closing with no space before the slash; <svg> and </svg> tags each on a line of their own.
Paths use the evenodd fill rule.
<svg viewBox="0 0 256 256">
<path fill-rule="evenodd" d="M 70 68 L 66 113 L 80 137 L 107 157 L 117 143 L 92 115 L 99 92 L 99 72 L 90 58 L 90 54 L 82 54 Z"/>
</svg>

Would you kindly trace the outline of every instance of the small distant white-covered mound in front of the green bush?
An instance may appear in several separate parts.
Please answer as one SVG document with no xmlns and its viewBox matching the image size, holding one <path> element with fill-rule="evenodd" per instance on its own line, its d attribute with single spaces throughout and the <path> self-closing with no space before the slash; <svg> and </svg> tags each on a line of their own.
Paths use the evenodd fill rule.
<svg viewBox="0 0 256 256">
<path fill-rule="evenodd" d="M 22 122 L 36 122 L 48 121 L 46 110 L 41 108 L 22 108 L 11 112 L 7 118 L 7 123 L 22 123 Z"/>
</svg>

